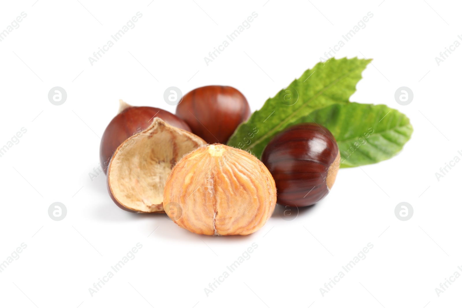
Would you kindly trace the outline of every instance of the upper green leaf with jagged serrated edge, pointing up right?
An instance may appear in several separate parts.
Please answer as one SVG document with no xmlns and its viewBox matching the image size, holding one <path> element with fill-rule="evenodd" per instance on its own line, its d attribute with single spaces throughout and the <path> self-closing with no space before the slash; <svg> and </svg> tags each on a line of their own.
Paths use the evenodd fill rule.
<svg viewBox="0 0 462 308">
<path fill-rule="evenodd" d="M 347 103 L 369 62 L 358 58 L 331 58 L 316 64 L 275 97 L 268 98 L 260 110 L 237 127 L 228 145 L 261 157 L 265 146 L 280 131 L 301 123 L 302 118 L 316 109 Z"/>
</svg>

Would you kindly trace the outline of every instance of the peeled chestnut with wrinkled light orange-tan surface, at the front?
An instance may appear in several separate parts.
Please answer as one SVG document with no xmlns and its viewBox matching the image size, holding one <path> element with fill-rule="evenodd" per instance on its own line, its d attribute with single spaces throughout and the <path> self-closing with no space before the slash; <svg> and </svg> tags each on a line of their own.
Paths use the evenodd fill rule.
<svg viewBox="0 0 462 308">
<path fill-rule="evenodd" d="M 247 235 L 274 211 L 276 186 L 260 160 L 230 146 L 206 145 L 183 157 L 164 188 L 164 208 L 196 234 Z"/>
</svg>

